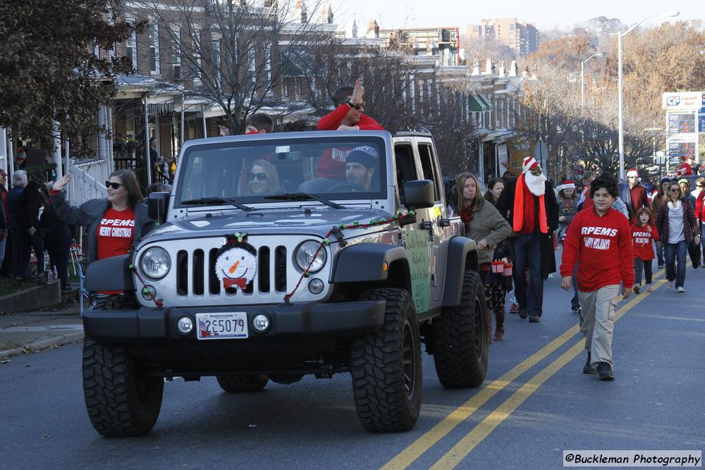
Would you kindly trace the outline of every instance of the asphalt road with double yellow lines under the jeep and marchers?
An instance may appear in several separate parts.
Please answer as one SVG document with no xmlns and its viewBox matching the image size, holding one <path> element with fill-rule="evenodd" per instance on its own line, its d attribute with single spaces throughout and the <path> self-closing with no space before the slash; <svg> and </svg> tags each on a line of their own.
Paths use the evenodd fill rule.
<svg viewBox="0 0 705 470">
<path fill-rule="evenodd" d="M 703 450 L 705 271 L 688 269 L 685 295 L 656 277 L 655 292 L 620 303 L 615 381 L 582 374 L 577 316 L 554 275 L 541 323 L 508 315 L 482 388 L 443 390 L 425 355 L 407 433 L 365 432 L 338 375 L 256 395 L 176 379 L 151 434 L 102 438 L 83 404 L 80 345 L 15 357 L 0 364 L 0 468 L 552 469 L 563 450 Z"/>
</svg>

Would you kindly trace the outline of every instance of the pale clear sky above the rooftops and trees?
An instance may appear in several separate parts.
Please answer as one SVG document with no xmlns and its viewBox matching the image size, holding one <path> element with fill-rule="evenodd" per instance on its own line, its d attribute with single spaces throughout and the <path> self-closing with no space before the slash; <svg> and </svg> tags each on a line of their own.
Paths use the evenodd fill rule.
<svg viewBox="0 0 705 470">
<path fill-rule="evenodd" d="M 569 30 L 575 23 L 596 16 L 619 18 L 623 23 L 634 24 L 645 16 L 668 10 L 680 11 L 678 18 L 668 20 L 705 20 L 705 1 L 702 0 L 332 0 L 331 4 L 336 23 L 341 26 L 352 23 L 352 18 L 359 26 L 367 26 L 374 18 L 382 28 L 458 26 L 461 32 L 465 25 L 478 23 L 483 18 L 516 17 L 520 22 L 537 23 L 539 30 L 554 27 Z M 654 18 L 644 25 L 657 25 L 665 20 Z"/>
</svg>

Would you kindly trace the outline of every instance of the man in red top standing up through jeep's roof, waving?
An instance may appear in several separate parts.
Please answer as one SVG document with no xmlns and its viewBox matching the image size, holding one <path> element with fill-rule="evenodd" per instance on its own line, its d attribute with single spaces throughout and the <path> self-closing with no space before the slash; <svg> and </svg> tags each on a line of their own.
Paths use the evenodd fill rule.
<svg viewBox="0 0 705 470">
<path fill-rule="evenodd" d="M 376 120 L 364 114 L 362 79 L 355 87 L 340 87 L 333 92 L 336 109 L 318 121 L 318 130 L 384 130 Z M 317 178 L 345 180 L 345 159 L 351 149 L 328 149 L 321 156 L 316 169 Z"/>
</svg>

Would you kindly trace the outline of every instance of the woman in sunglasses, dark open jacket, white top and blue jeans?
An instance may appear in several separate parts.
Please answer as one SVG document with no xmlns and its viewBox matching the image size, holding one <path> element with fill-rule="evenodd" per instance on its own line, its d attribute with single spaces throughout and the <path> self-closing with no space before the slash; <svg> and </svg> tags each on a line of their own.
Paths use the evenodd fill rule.
<svg viewBox="0 0 705 470">
<path fill-rule="evenodd" d="M 666 280 L 668 289 L 685 292 L 685 258 L 690 242 L 700 243 L 700 227 L 695 218 L 695 208 L 672 181 L 668 185 L 668 202 L 661 204 L 656 214 L 656 230 L 666 254 Z M 678 260 L 678 269 L 675 266 Z"/>
</svg>

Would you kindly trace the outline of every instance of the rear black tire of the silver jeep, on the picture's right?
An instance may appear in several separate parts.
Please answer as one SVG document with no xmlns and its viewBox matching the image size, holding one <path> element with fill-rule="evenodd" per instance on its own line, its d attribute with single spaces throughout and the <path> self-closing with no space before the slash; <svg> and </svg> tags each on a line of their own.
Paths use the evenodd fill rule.
<svg viewBox="0 0 705 470">
<path fill-rule="evenodd" d="M 444 308 L 431 324 L 436 373 L 445 388 L 479 387 L 487 375 L 484 287 L 478 273 L 465 271 L 463 276 L 460 305 Z"/>
</svg>

